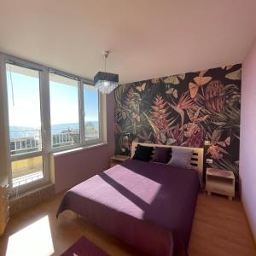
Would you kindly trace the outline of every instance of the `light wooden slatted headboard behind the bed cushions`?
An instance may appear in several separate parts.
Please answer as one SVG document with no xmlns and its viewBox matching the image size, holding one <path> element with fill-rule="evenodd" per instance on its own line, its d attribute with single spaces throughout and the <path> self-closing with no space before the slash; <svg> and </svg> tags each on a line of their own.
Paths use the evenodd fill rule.
<svg viewBox="0 0 256 256">
<path fill-rule="evenodd" d="M 193 155 L 191 158 L 191 166 L 195 166 L 198 169 L 199 175 L 202 180 L 203 175 L 203 163 L 204 163 L 204 148 L 189 148 L 189 147 L 179 147 L 179 146 L 172 146 L 172 145 L 160 145 L 160 144 L 150 144 L 150 143 L 137 143 L 132 142 L 131 145 L 131 158 L 134 155 L 136 150 L 137 144 L 148 146 L 148 147 L 163 147 L 163 148 L 186 148 L 193 150 Z"/>
</svg>

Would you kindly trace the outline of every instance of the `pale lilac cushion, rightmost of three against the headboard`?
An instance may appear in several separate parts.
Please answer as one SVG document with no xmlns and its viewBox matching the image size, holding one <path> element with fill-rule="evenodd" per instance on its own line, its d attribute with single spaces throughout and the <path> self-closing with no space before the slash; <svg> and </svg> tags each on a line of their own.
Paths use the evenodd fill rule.
<svg viewBox="0 0 256 256">
<path fill-rule="evenodd" d="M 193 150 L 188 148 L 172 148 L 172 159 L 168 162 L 168 165 L 191 169 L 191 157 Z"/>
</svg>

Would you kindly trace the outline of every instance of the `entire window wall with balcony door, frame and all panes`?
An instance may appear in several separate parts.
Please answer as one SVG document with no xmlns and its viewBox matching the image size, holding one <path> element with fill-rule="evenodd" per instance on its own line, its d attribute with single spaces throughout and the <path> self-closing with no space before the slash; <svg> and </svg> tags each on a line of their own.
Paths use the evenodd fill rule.
<svg viewBox="0 0 256 256">
<path fill-rule="evenodd" d="M 105 139 L 105 100 L 90 84 L 87 79 L 0 54 L 0 102 L 6 107 L 0 108 L 1 142 L 6 149 L 0 157 L 9 172 L 12 194 L 49 182 L 52 152 Z"/>
</svg>

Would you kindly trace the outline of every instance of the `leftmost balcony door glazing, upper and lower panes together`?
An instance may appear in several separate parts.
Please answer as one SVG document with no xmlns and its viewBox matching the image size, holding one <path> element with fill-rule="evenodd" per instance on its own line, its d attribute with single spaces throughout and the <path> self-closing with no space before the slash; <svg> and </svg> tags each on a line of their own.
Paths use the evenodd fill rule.
<svg viewBox="0 0 256 256">
<path fill-rule="evenodd" d="M 6 64 L 13 188 L 44 178 L 40 72 Z"/>
</svg>

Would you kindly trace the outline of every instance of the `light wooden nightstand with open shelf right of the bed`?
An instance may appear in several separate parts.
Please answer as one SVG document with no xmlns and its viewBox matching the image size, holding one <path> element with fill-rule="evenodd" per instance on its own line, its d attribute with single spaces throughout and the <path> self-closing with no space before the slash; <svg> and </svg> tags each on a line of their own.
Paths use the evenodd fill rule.
<svg viewBox="0 0 256 256">
<path fill-rule="evenodd" d="M 227 195 L 230 200 L 235 197 L 235 175 L 233 172 L 207 168 L 207 194 Z"/>
</svg>

